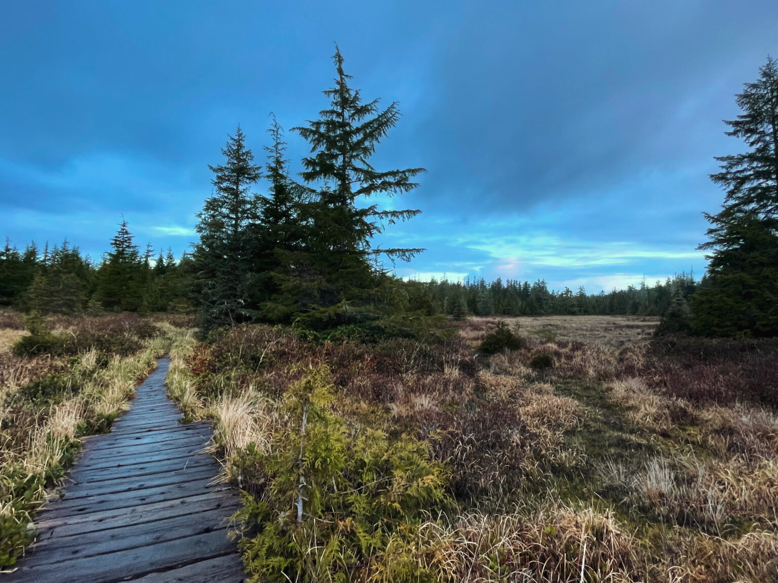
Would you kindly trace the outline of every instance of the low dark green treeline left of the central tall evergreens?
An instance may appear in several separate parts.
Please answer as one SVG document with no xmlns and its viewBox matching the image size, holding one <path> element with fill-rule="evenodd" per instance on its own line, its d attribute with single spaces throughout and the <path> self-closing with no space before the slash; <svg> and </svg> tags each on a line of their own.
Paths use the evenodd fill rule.
<svg viewBox="0 0 778 583">
<path fill-rule="evenodd" d="M 191 311 L 191 259 L 139 253 L 127 222 L 99 263 L 67 241 L 0 251 L 0 305 L 40 313 Z"/>
</svg>

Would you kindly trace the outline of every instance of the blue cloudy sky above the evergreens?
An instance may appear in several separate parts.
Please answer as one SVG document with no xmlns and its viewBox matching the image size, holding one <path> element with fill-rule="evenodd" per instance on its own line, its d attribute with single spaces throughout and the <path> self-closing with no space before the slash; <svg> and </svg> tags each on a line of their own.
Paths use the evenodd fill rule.
<svg viewBox="0 0 778 583">
<path fill-rule="evenodd" d="M 378 169 L 424 166 L 377 242 L 397 273 L 594 292 L 701 273 L 721 120 L 778 55 L 778 2 L 9 2 L 0 21 L 0 235 L 99 257 L 123 214 L 180 254 L 240 123 L 326 106 L 337 41 L 402 118 Z M 307 152 L 287 133 L 289 157 Z M 265 188 L 258 186 L 258 191 Z"/>
</svg>

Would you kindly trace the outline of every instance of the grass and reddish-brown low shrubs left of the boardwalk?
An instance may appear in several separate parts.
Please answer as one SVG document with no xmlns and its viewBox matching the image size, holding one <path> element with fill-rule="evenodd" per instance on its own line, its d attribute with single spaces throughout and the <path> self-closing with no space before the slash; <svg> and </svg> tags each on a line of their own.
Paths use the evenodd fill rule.
<svg viewBox="0 0 778 583">
<path fill-rule="evenodd" d="M 17 319 L 6 313 L 7 321 Z M 0 352 L 0 566 L 14 564 L 30 542 L 34 513 L 79 438 L 107 431 L 170 347 L 162 328 L 134 315 L 60 316 L 36 326 L 39 336 L 58 339 L 52 351 L 30 354 L 35 334 L 14 333 L 16 344 Z"/>
</svg>

